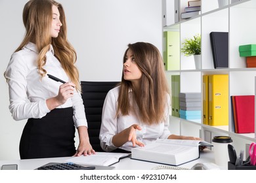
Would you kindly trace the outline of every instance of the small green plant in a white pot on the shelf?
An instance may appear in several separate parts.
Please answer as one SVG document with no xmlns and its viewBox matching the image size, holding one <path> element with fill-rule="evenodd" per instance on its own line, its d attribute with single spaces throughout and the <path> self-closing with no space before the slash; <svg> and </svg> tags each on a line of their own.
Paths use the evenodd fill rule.
<svg viewBox="0 0 256 183">
<path fill-rule="evenodd" d="M 184 56 L 194 56 L 196 69 L 201 67 L 201 35 L 194 35 L 193 38 L 185 39 L 182 42 L 181 52 Z"/>
</svg>

